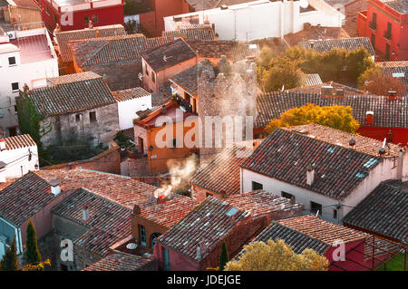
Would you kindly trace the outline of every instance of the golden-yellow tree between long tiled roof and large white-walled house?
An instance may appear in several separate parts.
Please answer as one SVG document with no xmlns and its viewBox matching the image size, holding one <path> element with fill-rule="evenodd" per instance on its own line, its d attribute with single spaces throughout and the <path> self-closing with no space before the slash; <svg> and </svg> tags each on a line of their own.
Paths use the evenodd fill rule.
<svg viewBox="0 0 408 289">
<path fill-rule="evenodd" d="M 360 124 L 353 117 L 352 111 L 350 106 L 318 106 L 307 103 L 300 108 L 285 111 L 279 119 L 270 120 L 265 130 L 267 133 L 271 133 L 276 128 L 317 123 L 329 128 L 355 133 Z"/>
</svg>

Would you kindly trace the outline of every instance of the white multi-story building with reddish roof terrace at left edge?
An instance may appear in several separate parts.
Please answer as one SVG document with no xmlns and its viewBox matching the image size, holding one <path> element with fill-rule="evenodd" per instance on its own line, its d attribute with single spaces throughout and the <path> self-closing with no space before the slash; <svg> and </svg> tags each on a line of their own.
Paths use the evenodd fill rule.
<svg viewBox="0 0 408 289">
<path fill-rule="evenodd" d="M 43 23 L 16 25 L 14 31 L 0 35 L 0 74 L 0 128 L 6 137 L 15 136 L 19 132 L 15 97 L 24 84 L 30 89 L 44 87 L 47 77 L 58 76 L 57 57 Z"/>
</svg>

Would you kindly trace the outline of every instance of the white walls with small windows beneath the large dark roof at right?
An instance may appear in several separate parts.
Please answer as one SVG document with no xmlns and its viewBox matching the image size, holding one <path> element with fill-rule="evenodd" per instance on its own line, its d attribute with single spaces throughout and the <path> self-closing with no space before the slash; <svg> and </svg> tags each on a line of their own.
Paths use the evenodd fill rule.
<svg viewBox="0 0 408 289">
<path fill-rule="evenodd" d="M 403 175 L 407 176 L 408 168 L 406 165 L 408 165 L 408 153 L 405 153 L 403 162 Z M 310 213 L 311 201 L 321 204 L 323 207 L 322 218 L 333 223 L 338 223 L 339 219 L 341 220 L 341 218 L 345 217 L 353 207 L 361 202 L 364 197 L 367 197 L 382 181 L 397 178 L 397 168 L 398 158 L 384 159 L 384 161 L 372 169 L 370 174 L 343 200 L 327 197 L 307 188 L 296 187 L 295 185 L 277 180 L 276 178 L 269 178 L 248 169 L 241 169 L 241 192 L 252 190 L 252 181 L 256 181 L 262 184 L 265 190 L 276 193 L 277 195 L 281 195 L 282 191 L 294 195 L 296 201 L 305 205 L 306 214 Z M 337 203 L 348 207 L 342 207 L 338 212 L 337 219 L 335 219 L 333 218 L 334 207 L 325 206 L 332 206 Z"/>
</svg>

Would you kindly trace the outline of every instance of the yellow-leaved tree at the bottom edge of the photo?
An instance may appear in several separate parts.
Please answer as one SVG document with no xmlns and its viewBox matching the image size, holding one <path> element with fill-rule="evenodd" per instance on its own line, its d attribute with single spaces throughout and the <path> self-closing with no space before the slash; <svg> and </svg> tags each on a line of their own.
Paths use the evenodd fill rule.
<svg viewBox="0 0 408 289">
<path fill-rule="evenodd" d="M 329 262 L 312 249 L 296 254 L 285 241 L 277 239 L 244 246 L 239 260 L 229 261 L 224 271 L 327 271 Z"/>
</svg>

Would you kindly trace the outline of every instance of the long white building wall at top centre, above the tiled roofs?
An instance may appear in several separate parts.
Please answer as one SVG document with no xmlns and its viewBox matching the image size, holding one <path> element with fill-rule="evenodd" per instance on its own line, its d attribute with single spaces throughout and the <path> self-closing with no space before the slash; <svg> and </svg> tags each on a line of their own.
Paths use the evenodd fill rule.
<svg viewBox="0 0 408 289">
<path fill-rule="evenodd" d="M 323 4 L 322 4 L 323 2 Z M 164 17 L 166 31 L 175 30 L 173 17 L 199 15 L 199 23 L 208 18 L 215 24 L 215 32 L 221 40 L 252 41 L 267 37 L 283 37 L 303 30 L 305 23 L 329 27 L 341 27 L 345 15 L 337 12 L 323 0 L 310 0 L 317 11 L 300 13 L 300 1 L 254 1 L 242 5 L 230 5 L 228 9 L 211 9 L 201 12 Z"/>
</svg>

